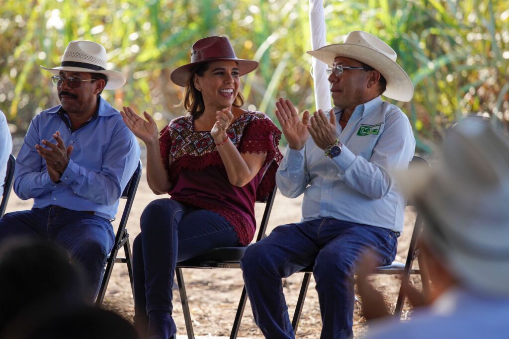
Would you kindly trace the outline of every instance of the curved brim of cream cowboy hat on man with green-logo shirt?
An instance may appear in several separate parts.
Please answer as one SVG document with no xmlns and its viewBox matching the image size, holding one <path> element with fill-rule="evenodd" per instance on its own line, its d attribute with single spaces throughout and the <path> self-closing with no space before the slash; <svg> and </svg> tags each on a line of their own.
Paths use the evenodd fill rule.
<svg viewBox="0 0 509 339">
<path fill-rule="evenodd" d="M 387 80 L 384 96 L 399 101 L 412 100 L 414 89 L 407 73 L 387 55 L 372 48 L 344 43 L 327 45 L 316 50 L 309 50 L 307 53 L 327 65 L 332 65 L 337 56 L 344 56 L 369 65 Z"/>
</svg>

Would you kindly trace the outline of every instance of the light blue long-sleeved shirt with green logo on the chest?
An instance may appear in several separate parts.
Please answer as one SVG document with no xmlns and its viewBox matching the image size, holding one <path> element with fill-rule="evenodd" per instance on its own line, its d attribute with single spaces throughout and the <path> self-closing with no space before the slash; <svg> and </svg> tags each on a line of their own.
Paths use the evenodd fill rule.
<svg viewBox="0 0 509 339">
<path fill-rule="evenodd" d="M 288 147 L 277 187 L 288 197 L 304 193 L 302 221 L 334 218 L 401 232 L 406 200 L 390 174 L 414 154 L 407 116 L 377 97 L 358 105 L 343 130 L 334 110 L 341 154 L 330 159 L 311 137 L 301 150 Z"/>
</svg>

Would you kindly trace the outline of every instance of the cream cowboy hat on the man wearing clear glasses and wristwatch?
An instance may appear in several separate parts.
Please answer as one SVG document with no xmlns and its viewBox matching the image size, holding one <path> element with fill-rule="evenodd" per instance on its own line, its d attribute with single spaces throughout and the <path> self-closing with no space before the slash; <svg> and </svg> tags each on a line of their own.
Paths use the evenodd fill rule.
<svg viewBox="0 0 509 339">
<path fill-rule="evenodd" d="M 323 46 L 307 53 L 330 66 L 336 56 L 360 61 L 379 71 L 387 80 L 384 96 L 399 101 L 412 99 L 412 81 L 403 68 L 396 63 L 396 52 L 374 35 L 363 31 L 353 31 L 348 33 L 342 44 Z"/>
</svg>

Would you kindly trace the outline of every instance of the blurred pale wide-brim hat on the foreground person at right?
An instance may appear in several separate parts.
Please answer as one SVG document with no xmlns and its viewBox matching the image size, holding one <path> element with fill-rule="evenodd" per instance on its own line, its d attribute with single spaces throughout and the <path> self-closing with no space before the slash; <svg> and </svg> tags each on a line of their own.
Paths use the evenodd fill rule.
<svg viewBox="0 0 509 339">
<path fill-rule="evenodd" d="M 478 117 L 444 139 L 432 168 L 400 184 L 425 215 L 423 239 L 462 286 L 509 297 L 509 142 Z"/>
</svg>

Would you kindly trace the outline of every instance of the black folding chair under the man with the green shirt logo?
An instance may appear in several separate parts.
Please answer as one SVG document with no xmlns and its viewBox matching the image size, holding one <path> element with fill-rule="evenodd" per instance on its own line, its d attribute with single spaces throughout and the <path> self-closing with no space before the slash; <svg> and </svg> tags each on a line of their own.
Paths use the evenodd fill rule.
<svg viewBox="0 0 509 339">
<path fill-rule="evenodd" d="M 415 165 L 430 165 L 426 159 L 421 158 L 419 156 L 414 156 L 412 161 L 409 164 L 409 167 Z M 412 206 L 412 202 L 408 202 L 407 206 Z M 419 257 L 419 248 L 418 248 L 418 239 L 420 238 L 420 234 L 422 231 L 423 220 L 422 217 L 417 214 L 415 218 L 414 229 L 412 232 L 412 239 L 410 240 L 410 246 L 408 248 L 408 255 L 405 264 L 400 262 L 392 262 L 392 264 L 387 266 L 379 266 L 376 268 L 374 274 L 401 274 L 402 275 L 402 285 L 400 286 L 400 292 L 398 294 L 398 301 L 396 302 L 396 307 L 394 310 L 394 316 L 401 318 L 401 313 L 403 310 L 403 304 L 405 302 L 405 291 L 402 288 L 404 284 L 408 283 L 411 274 L 419 274 L 422 280 L 422 291 L 425 294 L 429 294 L 430 285 L 428 279 L 428 273 L 426 271 L 425 264 L 422 262 L 422 258 Z M 412 268 L 412 265 L 417 259 L 419 264 L 419 268 Z M 299 326 L 300 315 L 302 313 L 302 307 L 304 306 L 304 299 L 306 298 L 307 287 L 309 285 L 309 280 L 311 279 L 311 274 L 313 273 L 313 267 L 306 267 L 302 269 L 300 272 L 304 272 L 304 278 L 302 279 L 302 285 L 300 288 L 299 299 L 297 300 L 297 305 L 295 306 L 295 313 L 293 315 L 292 327 L 294 333 L 297 333 L 297 327 Z"/>
</svg>

